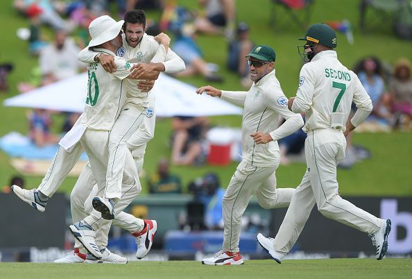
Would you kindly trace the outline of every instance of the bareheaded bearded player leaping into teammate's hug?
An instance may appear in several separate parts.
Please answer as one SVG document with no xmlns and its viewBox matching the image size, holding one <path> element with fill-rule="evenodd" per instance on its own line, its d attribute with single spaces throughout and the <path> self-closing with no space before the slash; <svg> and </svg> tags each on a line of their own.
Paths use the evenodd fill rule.
<svg viewBox="0 0 412 279">
<path fill-rule="evenodd" d="M 153 36 L 149 36 L 146 31 L 146 15 L 143 10 L 130 10 L 126 12 L 124 17 L 125 24 L 123 27 L 123 47 L 119 48 L 117 55 L 123 57 L 130 63 L 141 63 L 137 65 L 135 71 L 138 73 L 149 71 L 155 72 L 158 76 L 160 71 L 175 73 L 185 69 L 184 62 L 176 55 L 169 47 L 164 49 L 163 44 L 159 43 Z M 170 42 L 170 40 L 169 40 Z M 157 49 L 164 50 L 162 63 L 143 64 L 151 62 L 157 55 Z M 79 60 L 82 62 L 93 62 L 96 57 L 99 60 L 106 58 L 104 53 L 90 51 L 88 48 L 83 49 L 79 53 Z M 109 62 L 102 61 L 102 65 L 112 65 L 112 58 Z M 107 60 L 105 60 L 107 61 Z M 109 69 L 111 71 L 111 69 Z M 136 73 L 135 73 L 136 74 Z M 157 78 L 155 76 L 155 78 Z M 127 86 L 126 105 L 122 109 L 119 119 L 117 119 L 110 133 L 109 141 L 109 164 L 106 174 L 106 187 L 103 197 L 96 196 L 93 200 L 93 206 L 96 210 L 102 213 L 105 219 L 114 218 L 114 204 L 121 197 L 121 181 L 123 176 L 123 166 L 126 156 L 130 156 L 129 147 L 133 140 L 128 142 L 130 138 L 134 138 L 132 134 L 141 125 L 146 108 L 148 108 L 147 96 L 150 92 L 142 92 L 137 87 L 138 80 L 129 80 Z"/>
</svg>

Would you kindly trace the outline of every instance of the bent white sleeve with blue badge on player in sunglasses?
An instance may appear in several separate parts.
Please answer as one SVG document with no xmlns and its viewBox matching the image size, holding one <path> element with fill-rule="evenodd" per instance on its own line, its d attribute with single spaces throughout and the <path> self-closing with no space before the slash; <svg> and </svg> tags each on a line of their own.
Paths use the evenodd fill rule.
<svg viewBox="0 0 412 279">
<path fill-rule="evenodd" d="M 273 91 L 268 92 L 267 90 L 264 92 L 264 103 L 266 106 L 286 119 L 281 126 L 269 133 L 273 140 L 280 140 L 283 137 L 295 133 L 295 131 L 302 128 L 304 124 L 300 114 L 293 113 L 288 109 L 287 100 L 283 92 L 277 92 L 277 94 Z"/>
</svg>

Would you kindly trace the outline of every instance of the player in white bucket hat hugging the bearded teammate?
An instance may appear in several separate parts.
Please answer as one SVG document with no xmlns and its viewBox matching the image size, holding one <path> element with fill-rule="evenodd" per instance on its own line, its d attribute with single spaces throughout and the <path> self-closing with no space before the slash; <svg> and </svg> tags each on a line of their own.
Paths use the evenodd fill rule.
<svg viewBox="0 0 412 279">
<path fill-rule="evenodd" d="M 114 51 L 117 51 L 122 45 L 122 26 L 123 21 L 115 22 L 114 19 L 106 15 L 94 19 L 89 26 L 89 33 L 92 37 L 89 47 L 114 56 Z M 40 212 L 44 212 L 49 197 L 54 194 L 69 170 L 74 166 L 83 148 L 89 156 L 90 167 L 97 181 L 99 191 L 102 192 L 105 186 L 105 173 L 108 164 L 108 149 L 105 146 L 108 146 L 108 134 L 126 99 L 126 87 L 122 86 L 123 79 L 130 78 L 130 67 L 132 67 L 130 63 L 120 57 L 116 57 L 115 62 L 117 70 L 113 74 L 105 71 L 96 62 L 89 65 L 89 85 L 87 86 L 85 112 L 80 116 L 74 128 L 67 134 L 68 136 L 64 138 L 65 141 L 60 142 L 62 148 L 55 155 L 42 184 L 37 189 L 31 190 L 22 189 L 17 185 L 12 186 L 13 192 L 19 198 Z M 127 171 L 128 176 L 123 178 L 121 199 L 117 201 L 115 206 L 117 212 L 121 212 L 126 208 L 130 201 L 141 191 L 135 162 L 132 160 L 131 155 L 130 158 L 126 159 L 125 171 Z M 87 212 L 91 212 L 91 210 L 87 210 Z M 132 223 L 128 223 L 129 230 L 141 232 L 146 228 L 143 220 L 137 222 L 133 217 L 132 221 Z M 134 230 L 132 227 L 134 227 Z M 99 228 L 104 228 L 104 230 L 98 230 Z M 105 237 L 106 243 L 101 251 L 99 250 L 101 246 L 96 244 L 96 230 L 98 230 L 98 233 L 107 234 L 108 228 L 110 228 L 110 221 L 102 219 L 97 212 L 92 212 L 82 221 L 70 226 L 75 237 L 94 257 L 89 260 L 94 261 L 96 259 L 114 260 L 113 254 L 105 248 L 107 236 Z M 123 262 L 119 263 L 126 262 L 127 259 L 123 258 Z"/>
</svg>

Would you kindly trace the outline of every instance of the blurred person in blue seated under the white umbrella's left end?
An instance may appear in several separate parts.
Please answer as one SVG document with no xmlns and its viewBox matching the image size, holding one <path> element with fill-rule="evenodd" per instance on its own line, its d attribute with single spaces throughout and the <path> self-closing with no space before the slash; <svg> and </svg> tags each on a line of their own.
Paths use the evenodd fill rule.
<svg viewBox="0 0 412 279">
<path fill-rule="evenodd" d="M 51 116 L 48 110 L 34 109 L 29 115 L 30 138 L 37 146 L 56 144 L 60 137 L 50 132 Z"/>
</svg>

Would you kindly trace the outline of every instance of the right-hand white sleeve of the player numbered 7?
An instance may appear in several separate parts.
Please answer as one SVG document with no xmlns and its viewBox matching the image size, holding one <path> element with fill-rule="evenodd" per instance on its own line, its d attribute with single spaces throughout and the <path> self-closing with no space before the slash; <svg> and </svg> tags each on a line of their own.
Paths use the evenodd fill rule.
<svg viewBox="0 0 412 279">
<path fill-rule="evenodd" d="M 351 73 L 351 76 L 354 79 L 353 101 L 355 105 L 357 105 L 357 112 L 355 112 L 352 119 L 350 119 L 350 122 L 353 126 L 357 127 L 365 121 L 366 117 L 372 112 L 372 101 L 357 75 Z"/>
</svg>

